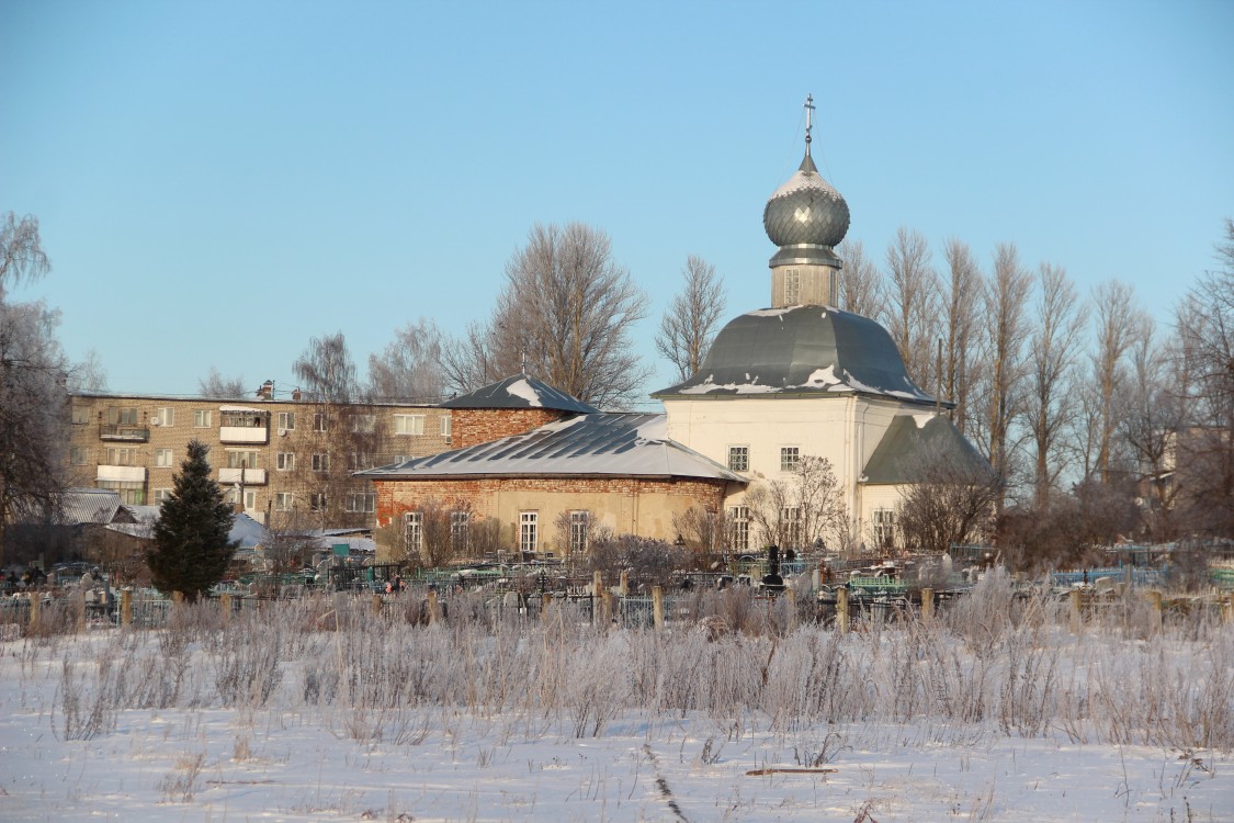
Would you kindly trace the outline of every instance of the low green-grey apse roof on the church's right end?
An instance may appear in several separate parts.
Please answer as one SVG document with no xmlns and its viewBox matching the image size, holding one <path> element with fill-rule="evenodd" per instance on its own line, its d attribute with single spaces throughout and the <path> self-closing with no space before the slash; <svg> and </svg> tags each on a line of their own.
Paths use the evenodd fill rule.
<svg viewBox="0 0 1234 823">
<path fill-rule="evenodd" d="M 866 485 L 907 485 L 921 482 L 919 464 L 914 458 L 928 450 L 948 450 L 955 455 L 961 470 L 976 475 L 992 473 L 990 461 L 981 457 L 960 429 L 946 417 L 934 415 L 900 415 L 891 421 L 879 447 L 870 455 L 861 473 Z"/>
</svg>

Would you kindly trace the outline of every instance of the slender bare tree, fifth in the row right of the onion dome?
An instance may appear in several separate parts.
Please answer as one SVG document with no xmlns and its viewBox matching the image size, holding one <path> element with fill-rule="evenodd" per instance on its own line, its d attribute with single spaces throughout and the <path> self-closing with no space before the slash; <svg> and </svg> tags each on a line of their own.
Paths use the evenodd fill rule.
<svg viewBox="0 0 1234 823">
<path fill-rule="evenodd" d="M 1061 267 L 1043 263 L 1038 270 L 1038 289 L 1025 417 L 1035 450 L 1034 498 L 1040 506 L 1066 468 L 1065 434 L 1077 415 L 1072 380 L 1088 315 Z"/>
</svg>

